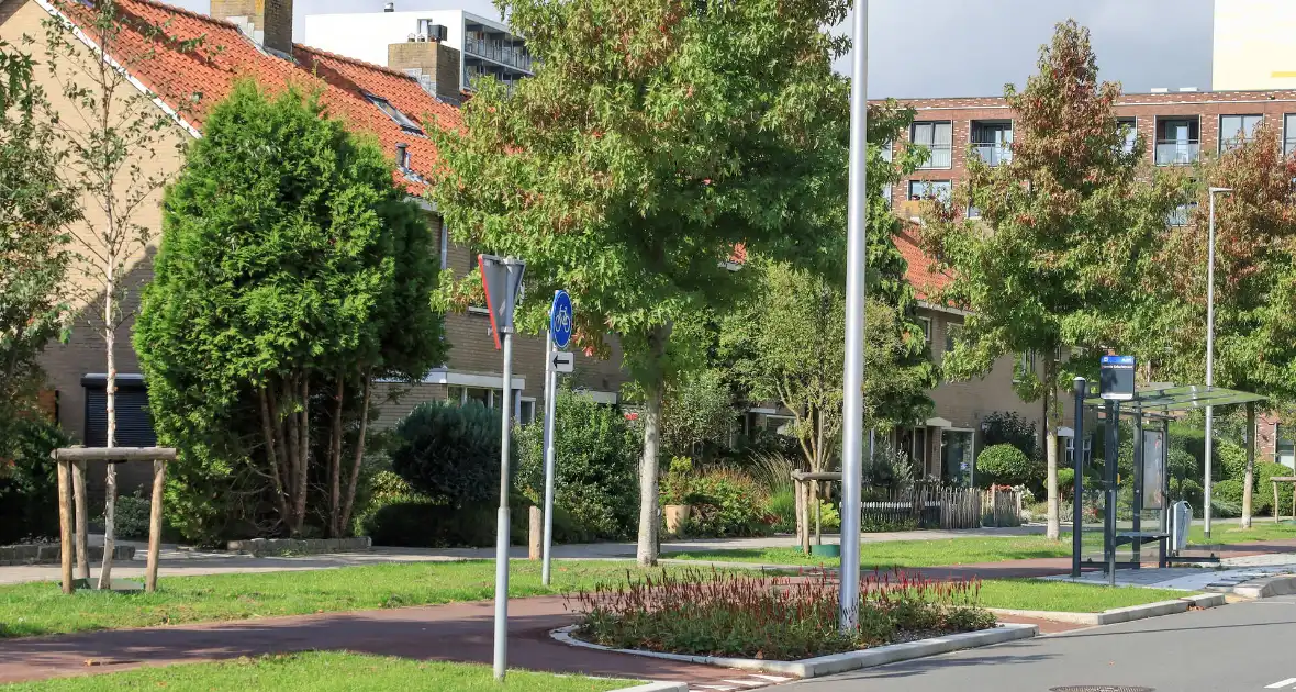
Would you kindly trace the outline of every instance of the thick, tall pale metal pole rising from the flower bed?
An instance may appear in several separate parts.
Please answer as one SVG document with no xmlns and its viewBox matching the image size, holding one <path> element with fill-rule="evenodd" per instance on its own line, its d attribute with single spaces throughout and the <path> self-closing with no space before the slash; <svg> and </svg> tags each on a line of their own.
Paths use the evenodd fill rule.
<svg viewBox="0 0 1296 692">
<path fill-rule="evenodd" d="M 855 0 L 850 79 L 850 193 L 846 219 L 846 363 L 841 435 L 841 582 L 837 623 L 854 630 L 859 609 L 859 495 L 864 442 L 864 263 L 868 172 L 868 0 Z"/>
</svg>

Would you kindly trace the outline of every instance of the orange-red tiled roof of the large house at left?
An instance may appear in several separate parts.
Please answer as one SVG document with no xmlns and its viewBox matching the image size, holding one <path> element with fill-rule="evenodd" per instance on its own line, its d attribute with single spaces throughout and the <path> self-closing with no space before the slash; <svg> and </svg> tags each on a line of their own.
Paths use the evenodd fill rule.
<svg viewBox="0 0 1296 692">
<path fill-rule="evenodd" d="M 319 86 L 320 101 L 330 115 L 346 121 L 356 131 L 377 136 L 388 157 L 395 156 L 398 143 L 408 145 L 411 168 L 426 178 L 437 157 L 432 141 L 402 130 L 364 93 L 385 98 L 417 122 L 435 118 L 442 127 L 460 123 L 459 109 L 430 96 L 403 73 L 299 44 L 293 47 L 294 63 L 263 52 L 231 22 L 153 0 L 118 0 L 117 4 L 127 27 L 148 23 L 159 27 L 174 41 L 201 39 L 197 48 L 180 51 L 171 40 L 153 40 L 127 29 L 118 38 L 114 49 L 118 54 L 113 56 L 200 131 L 209 109 L 224 98 L 240 78 L 255 78 L 272 91 L 288 84 Z M 74 8 L 65 3 L 56 3 L 56 6 Z M 88 34 L 93 39 L 93 34 Z M 150 48 L 156 49 L 154 56 L 139 60 Z M 412 194 L 420 194 L 425 187 L 399 172 L 395 179 Z"/>
</svg>

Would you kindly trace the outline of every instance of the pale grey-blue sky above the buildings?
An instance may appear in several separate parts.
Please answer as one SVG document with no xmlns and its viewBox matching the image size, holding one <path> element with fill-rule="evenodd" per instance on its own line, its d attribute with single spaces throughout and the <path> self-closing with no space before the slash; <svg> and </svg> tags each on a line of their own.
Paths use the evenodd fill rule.
<svg viewBox="0 0 1296 692">
<path fill-rule="evenodd" d="M 209 12 L 210 0 L 170 0 Z M 294 36 L 307 14 L 382 12 L 385 0 L 297 0 Z M 499 17 L 490 0 L 395 0 L 397 10 L 465 9 Z M 1093 32 L 1103 79 L 1126 92 L 1210 88 L 1213 0 L 872 0 L 868 96 L 998 96 L 1024 84 L 1056 22 Z M 835 31 L 849 31 L 850 22 Z M 850 74 L 850 58 L 837 61 Z"/>
</svg>

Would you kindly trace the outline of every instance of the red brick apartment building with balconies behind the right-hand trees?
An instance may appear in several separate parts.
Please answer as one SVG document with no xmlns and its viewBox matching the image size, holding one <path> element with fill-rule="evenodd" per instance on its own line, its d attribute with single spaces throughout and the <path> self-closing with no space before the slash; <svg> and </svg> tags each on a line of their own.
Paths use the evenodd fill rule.
<svg viewBox="0 0 1296 692">
<path fill-rule="evenodd" d="M 916 143 L 931 150 L 925 166 L 890 189 L 892 206 L 901 216 L 915 216 L 915 202 L 925 196 L 949 194 L 963 178 L 968 157 L 991 166 L 1011 161 L 1013 111 L 1002 97 L 906 98 L 901 104 L 916 113 L 893 146 Z M 1187 166 L 1218 156 L 1253 136 L 1262 121 L 1278 124 L 1286 154 L 1296 152 L 1296 91 L 1128 93 L 1117 101 L 1116 115 L 1131 126 L 1125 146 L 1137 146 L 1142 135 L 1142 154 L 1153 166 Z M 1186 211 L 1170 223 L 1187 223 Z M 976 210 L 968 214 L 975 216 Z M 915 260 L 921 262 L 921 255 L 910 258 L 911 264 Z M 940 399 L 941 391 L 936 395 Z M 1275 420 L 1260 425 L 1260 452 L 1296 468 L 1296 435 Z"/>
</svg>

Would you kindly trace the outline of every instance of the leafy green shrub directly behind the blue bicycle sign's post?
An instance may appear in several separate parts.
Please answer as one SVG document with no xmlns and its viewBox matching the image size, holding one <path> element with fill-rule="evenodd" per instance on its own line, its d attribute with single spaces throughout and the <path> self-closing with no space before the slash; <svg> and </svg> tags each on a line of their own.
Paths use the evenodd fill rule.
<svg viewBox="0 0 1296 692">
<path fill-rule="evenodd" d="M 555 540 L 625 538 L 638 526 L 642 435 L 616 408 L 560 391 L 553 402 Z M 517 432 L 517 487 L 531 503 L 544 502 L 544 426 Z M 559 518 L 569 521 L 559 530 Z"/>
</svg>

